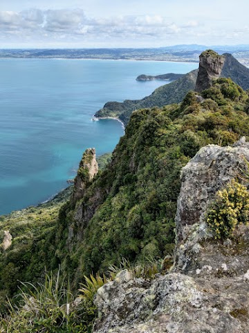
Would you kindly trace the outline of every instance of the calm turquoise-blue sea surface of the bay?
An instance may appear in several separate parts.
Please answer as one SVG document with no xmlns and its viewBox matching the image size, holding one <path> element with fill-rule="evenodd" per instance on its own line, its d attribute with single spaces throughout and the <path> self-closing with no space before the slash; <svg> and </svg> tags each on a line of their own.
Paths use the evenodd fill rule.
<svg viewBox="0 0 249 333">
<path fill-rule="evenodd" d="M 196 63 L 0 59 L 0 215 L 48 200 L 75 176 L 86 148 L 113 151 L 124 134 L 92 121 L 107 101 L 141 99 L 165 81 L 140 74 L 187 73 Z"/>
</svg>

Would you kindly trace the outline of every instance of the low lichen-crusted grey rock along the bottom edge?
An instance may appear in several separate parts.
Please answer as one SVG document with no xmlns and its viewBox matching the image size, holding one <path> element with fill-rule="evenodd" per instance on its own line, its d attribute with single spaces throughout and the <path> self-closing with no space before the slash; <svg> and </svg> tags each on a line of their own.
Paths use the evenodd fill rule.
<svg viewBox="0 0 249 333">
<path fill-rule="evenodd" d="M 230 282 L 228 290 L 225 279 L 210 284 L 180 273 L 154 281 L 114 280 L 95 297 L 94 333 L 246 333 L 248 282 L 243 277 Z"/>
</svg>

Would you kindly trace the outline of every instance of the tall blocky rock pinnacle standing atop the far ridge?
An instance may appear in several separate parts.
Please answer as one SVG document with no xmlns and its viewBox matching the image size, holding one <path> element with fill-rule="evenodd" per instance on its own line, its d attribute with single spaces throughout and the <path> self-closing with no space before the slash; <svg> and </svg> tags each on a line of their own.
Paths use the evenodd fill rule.
<svg viewBox="0 0 249 333">
<path fill-rule="evenodd" d="M 201 53 L 199 73 L 196 80 L 196 92 L 202 92 L 212 86 L 212 80 L 221 76 L 225 57 L 218 53 L 207 50 Z"/>
</svg>

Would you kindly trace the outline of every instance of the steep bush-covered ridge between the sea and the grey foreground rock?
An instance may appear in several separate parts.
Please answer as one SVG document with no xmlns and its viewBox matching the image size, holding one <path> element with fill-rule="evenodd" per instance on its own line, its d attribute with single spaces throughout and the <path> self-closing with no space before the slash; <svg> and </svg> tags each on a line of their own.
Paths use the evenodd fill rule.
<svg viewBox="0 0 249 333">
<path fill-rule="evenodd" d="M 61 248 L 60 259 L 77 268 L 76 281 L 122 257 L 171 253 L 181 168 L 206 144 L 226 146 L 249 135 L 248 94 L 241 87 L 221 78 L 201 95 L 190 92 L 181 105 L 133 112 L 111 164 L 75 210 L 61 210 L 71 253 Z"/>
</svg>

